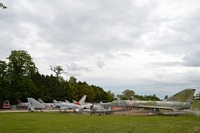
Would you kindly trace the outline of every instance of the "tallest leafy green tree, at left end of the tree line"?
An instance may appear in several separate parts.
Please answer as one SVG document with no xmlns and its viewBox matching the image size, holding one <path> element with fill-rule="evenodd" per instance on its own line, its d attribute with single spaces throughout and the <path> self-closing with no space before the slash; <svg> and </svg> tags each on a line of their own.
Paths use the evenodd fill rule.
<svg viewBox="0 0 200 133">
<path fill-rule="evenodd" d="M 31 75 L 37 71 L 31 56 L 24 50 L 13 50 L 7 59 L 9 60 L 7 77 L 11 84 L 10 98 L 14 100 L 31 96 L 37 91 L 31 80 Z"/>
</svg>

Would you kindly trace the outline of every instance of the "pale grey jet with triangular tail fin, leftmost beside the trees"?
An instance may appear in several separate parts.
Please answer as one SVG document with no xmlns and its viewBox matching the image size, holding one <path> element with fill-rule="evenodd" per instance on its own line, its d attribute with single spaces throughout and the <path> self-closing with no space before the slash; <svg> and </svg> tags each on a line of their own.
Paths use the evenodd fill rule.
<svg viewBox="0 0 200 133">
<path fill-rule="evenodd" d="M 28 100 L 28 110 L 29 112 L 34 112 L 35 109 L 44 109 L 45 106 L 41 103 L 39 103 L 37 100 L 34 98 L 27 98 Z"/>
</svg>

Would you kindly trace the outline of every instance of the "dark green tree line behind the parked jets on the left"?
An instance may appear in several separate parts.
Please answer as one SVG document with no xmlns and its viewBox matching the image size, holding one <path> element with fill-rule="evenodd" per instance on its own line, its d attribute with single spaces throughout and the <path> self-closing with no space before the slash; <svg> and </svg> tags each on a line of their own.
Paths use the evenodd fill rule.
<svg viewBox="0 0 200 133">
<path fill-rule="evenodd" d="M 83 95 L 87 95 L 88 102 L 114 100 L 111 91 L 106 92 L 99 86 L 77 81 L 75 77 L 63 79 L 60 66 L 50 66 L 56 76 L 39 73 L 25 50 L 12 50 L 6 59 L 8 62 L 0 60 L 0 101 L 9 99 L 14 104 L 17 99 L 26 101 L 27 97 L 41 98 L 45 102 L 53 99 L 72 101 Z"/>
</svg>

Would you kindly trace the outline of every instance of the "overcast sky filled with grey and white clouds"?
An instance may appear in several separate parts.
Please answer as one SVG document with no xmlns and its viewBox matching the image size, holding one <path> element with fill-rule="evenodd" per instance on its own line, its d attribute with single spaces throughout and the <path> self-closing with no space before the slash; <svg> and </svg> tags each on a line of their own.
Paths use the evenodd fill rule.
<svg viewBox="0 0 200 133">
<path fill-rule="evenodd" d="M 163 99 L 200 91 L 199 0 L 1 0 L 0 60 L 27 51 L 41 74 Z"/>
</svg>

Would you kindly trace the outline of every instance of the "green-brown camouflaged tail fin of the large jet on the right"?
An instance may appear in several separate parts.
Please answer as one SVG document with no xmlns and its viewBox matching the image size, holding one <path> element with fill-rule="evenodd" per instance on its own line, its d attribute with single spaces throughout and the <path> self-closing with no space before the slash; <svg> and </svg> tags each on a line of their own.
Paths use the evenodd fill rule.
<svg viewBox="0 0 200 133">
<path fill-rule="evenodd" d="M 195 89 L 184 89 L 173 96 L 165 99 L 165 101 L 177 101 L 177 102 L 190 102 L 193 103 Z"/>
</svg>

